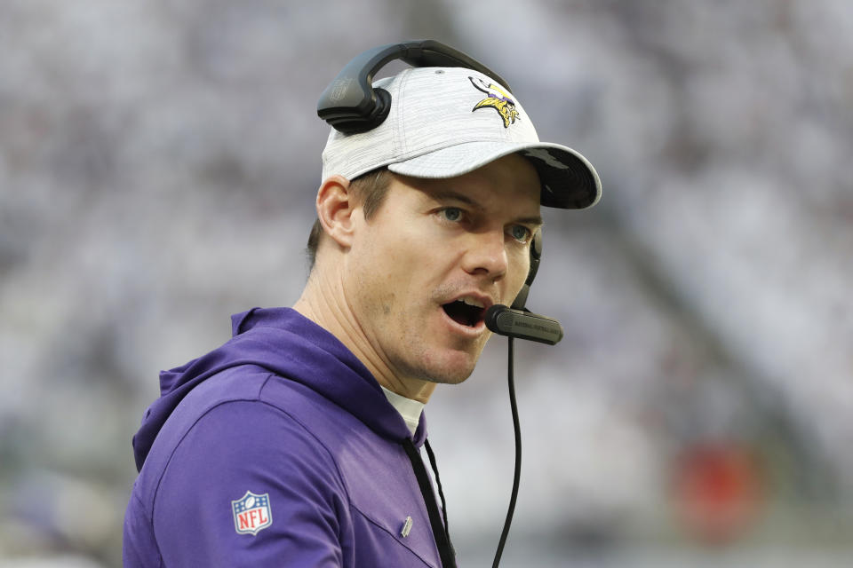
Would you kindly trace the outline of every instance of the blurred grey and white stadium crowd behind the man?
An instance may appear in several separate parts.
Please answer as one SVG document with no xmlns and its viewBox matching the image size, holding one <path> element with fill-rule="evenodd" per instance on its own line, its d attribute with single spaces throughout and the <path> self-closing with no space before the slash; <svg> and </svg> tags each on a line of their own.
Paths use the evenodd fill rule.
<svg viewBox="0 0 853 568">
<path fill-rule="evenodd" d="M 853 563 L 853 4 L 0 4 L 0 567 L 121 564 L 157 372 L 289 305 L 356 53 L 434 38 L 602 175 L 546 212 L 506 566 Z M 505 340 L 427 408 L 461 564 L 513 471 Z"/>
</svg>

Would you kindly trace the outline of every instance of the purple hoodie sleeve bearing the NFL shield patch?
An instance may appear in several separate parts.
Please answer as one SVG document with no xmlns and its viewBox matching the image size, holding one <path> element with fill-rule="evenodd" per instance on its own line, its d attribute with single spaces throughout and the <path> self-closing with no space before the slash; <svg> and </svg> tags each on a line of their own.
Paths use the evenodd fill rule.
<svg viewBox="0 0 853 568">
<path fill-rule="evenodd" d="M 152 517 L 170 567 L 350 564 L 347 492 L 331 455 L 258 400 L 220 404 L 195 422 L 163 472 Z"/>
</svg>

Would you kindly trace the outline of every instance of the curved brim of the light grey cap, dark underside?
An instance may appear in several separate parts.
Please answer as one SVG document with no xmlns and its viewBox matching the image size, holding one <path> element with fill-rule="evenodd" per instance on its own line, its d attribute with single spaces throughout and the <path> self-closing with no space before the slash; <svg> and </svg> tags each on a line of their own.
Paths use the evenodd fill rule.
<svg viewBox="0 0 853 568">
<path fill-rule="evenodd" d="M 538 171 L 542 205 L 585 209 L 601 199 L 602 182 L 592 164 L 570 147 L 559 144 L 466 142 L 390 163 L 388 170 L 411 177 L 457 177 L 516 152 L 528 158 Z"/>
</svg>

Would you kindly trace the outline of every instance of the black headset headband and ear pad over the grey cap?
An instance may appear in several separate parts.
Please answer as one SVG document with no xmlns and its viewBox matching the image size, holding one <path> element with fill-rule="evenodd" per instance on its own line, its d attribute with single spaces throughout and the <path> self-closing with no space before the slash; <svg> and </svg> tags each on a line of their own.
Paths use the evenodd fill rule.
<svg viewBox="0 0 853 568">
<path fill-rule="evenodd" d="M 366 132 L 379 126 L 391 110 L 391 95 L 373 88 L 373 77 L 391 61 L 401 59 L 412 67 L 466 67 L 509 85 L 489 67 L 434 40 L 388 43 L 364 51 L 326 87 L 317 102 L 317 114 L 344 134 Z"/>
</svg>

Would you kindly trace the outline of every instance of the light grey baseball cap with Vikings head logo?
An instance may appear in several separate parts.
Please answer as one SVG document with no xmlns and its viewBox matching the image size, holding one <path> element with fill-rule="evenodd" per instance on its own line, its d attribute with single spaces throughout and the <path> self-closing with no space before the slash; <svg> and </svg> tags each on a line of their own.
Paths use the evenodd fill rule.
<svg viewBox="0 0 853 568">
<path fill-rule="evenodd" d="M 570 147 L 539 142 L 518 100 L 487 75 L 414 67 L 373 86 L 391 94 L 387 119 L 359 134 L 332 129 L 323 179 L 354 179 L 383 166 L 412 177 L 456 177 L 517 152 L 538 170 L 542 205 L 584 209 L 601 199 L 592 164 Z"/>
</svg>

